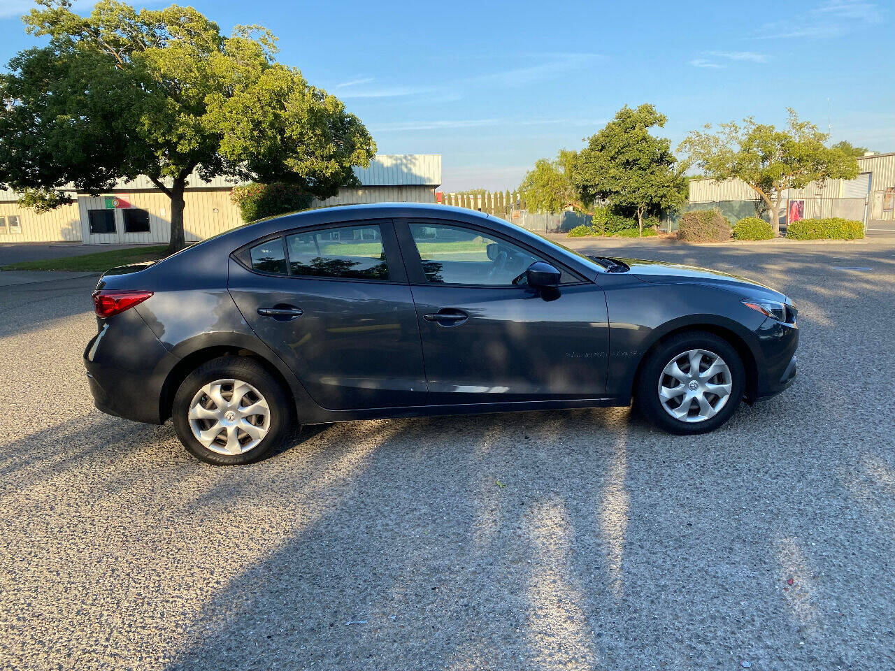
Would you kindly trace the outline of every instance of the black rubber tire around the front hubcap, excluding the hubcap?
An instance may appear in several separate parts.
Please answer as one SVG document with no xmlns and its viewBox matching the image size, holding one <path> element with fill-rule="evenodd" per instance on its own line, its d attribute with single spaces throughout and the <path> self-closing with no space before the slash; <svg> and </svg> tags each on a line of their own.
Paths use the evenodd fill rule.
<svg viewBox="0 0 895 671">
<path fill-rule="evenodd" d="M 720 356 L 730 370 L 731 389 L 726 403 L 713 417 L 687 422 L 678 420 L 666 411 L 659 397 L 659 383 L 665 366 L 677 355 L 690 350 L 706 350 Z M 669 433 L 693 436 L 718 429 L 737 412 L 746 389 L 746 369 L 737 350 L 729 342 L 706 331 L 690 331 L 672 335 L 647 355 L 636 381 L 635 401 L 646 419 Z M 707 414 L 707 413 L 706 413 Z"/>
</svg>

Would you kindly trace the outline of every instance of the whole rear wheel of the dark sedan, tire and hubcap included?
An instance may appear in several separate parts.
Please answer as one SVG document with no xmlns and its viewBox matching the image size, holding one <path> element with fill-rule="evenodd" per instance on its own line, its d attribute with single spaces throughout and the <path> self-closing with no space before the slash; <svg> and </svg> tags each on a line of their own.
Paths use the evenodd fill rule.
<svg viewBox="0 0 895 671">
<path fill-rule="evenodd" d="M 177 389 L 175 431 L 202 461 L 257 461 L 285 437 L 292 413 L 286 391 L 245 357 L 221 357 L 194 370 Z"/>
</svg>

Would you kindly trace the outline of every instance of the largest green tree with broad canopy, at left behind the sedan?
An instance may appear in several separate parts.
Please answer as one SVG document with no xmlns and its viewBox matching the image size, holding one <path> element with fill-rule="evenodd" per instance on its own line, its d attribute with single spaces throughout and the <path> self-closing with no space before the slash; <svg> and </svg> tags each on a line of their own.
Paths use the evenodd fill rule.
<svg viewBox="0 0 895 671">
<path fill-rule="evenodd" d="M 192 7 L 135 10 L 101 0 L 36 0 L 26 30 L 46 47 L 0 75 L 0 183 L 52 207 L 66 184 L 96 194 L 146 174 L 171 200 L 183 248 L 183 193 L 195 171 L 292 183 L 318 198 L 356 185 L 376 146 L 342 102 L 278 64 L 254 26 L 224 37 Z"/>
</svg>

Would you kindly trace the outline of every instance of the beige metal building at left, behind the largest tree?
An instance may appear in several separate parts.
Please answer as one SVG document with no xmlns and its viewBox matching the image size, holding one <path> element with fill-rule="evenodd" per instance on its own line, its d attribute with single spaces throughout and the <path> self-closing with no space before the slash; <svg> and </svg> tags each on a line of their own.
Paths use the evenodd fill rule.
<svg viewBox="0 0 895 671">
<path fill-rule="evenodd" d="M 355 168 L 361 181 L 313 207 L 373 202 L 435 202 L 441 184 L 439 154 L 383 155 L 370 167 Z M 184 194 L 183 227 L 187 241 L 197 241 L 243 224 L 230 201 L 237 182 L 216 178 L 203 182 L 193 174 Z M 85 244 L 167 242 L 170 202 L 148 177 L 120 182 L 98 197 L 71 191 L 76 202 L 46 214 L 20 208 L 18 195 L 0 191 L 0 242 L 71 241 Z"/>
</svg>

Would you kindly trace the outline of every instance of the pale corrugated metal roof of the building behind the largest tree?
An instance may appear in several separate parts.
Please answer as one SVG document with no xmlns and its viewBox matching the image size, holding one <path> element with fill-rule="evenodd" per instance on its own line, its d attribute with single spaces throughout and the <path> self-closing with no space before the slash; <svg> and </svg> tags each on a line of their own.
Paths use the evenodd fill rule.
<svg viewBox="0 0 895 671">
<path fill-rule="evenodd" d="M 440 154 L 379 154 L 373 157 L 368 168 L 354 168 L 354 174 L 361 180 L 363 186 L 440 186 L 441 185 L 441 155 Z M 171 180 L 166 179 L 166 185 L 171 185 Z M 189 178 L 191 189 L 230 189 L 237 184 L 244 184 L 240 180 L 226 177 L 215 177 L 210 182 L 203 181 L 198 173 L 193 173 Z M 119 180 L 115 188 L 109 191 L 137 191 L 141 189 L 155 189 L 149 177 L 141 174 L 136 179 Z M 62 191 L 74 191 L 71 186 L 66 186 Z M 0 200 L 18 200 L 14 191 L 0 190 Z"/>
</svg>

